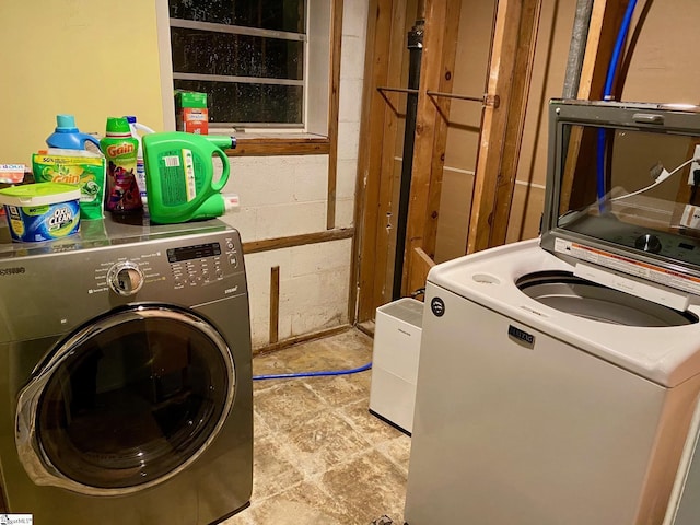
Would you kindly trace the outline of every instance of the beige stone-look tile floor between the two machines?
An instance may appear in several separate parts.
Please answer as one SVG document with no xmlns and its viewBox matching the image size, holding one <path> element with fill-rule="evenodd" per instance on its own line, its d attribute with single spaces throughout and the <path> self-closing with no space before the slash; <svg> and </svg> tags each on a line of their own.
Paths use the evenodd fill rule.
<svg viewBox="0 0 700 525">
<path fill-rule="evenodd" d="M 372 338 L 349 329 L 256 355 L 253 374 L 359 368 Z M 224 525 L 402 524 L 410 438 L 369 413 L 372 372 L 254 384 L 250 506 Z"/>
</svg>

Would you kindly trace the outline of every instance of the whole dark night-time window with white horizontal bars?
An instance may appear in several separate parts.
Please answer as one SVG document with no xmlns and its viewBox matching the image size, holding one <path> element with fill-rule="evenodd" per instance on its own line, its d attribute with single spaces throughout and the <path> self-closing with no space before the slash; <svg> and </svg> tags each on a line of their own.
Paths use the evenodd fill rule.
<svg viewBox="0 0 700 525">
<path fill-rule="evenodd" d="M 325 135 L 329 4 L 329 0 L 167 1 L 172 86 L 207 93 L 210 127 L 291 128 Z M 323 114 L 316 107 L 322 93 Z"/>
</svg>

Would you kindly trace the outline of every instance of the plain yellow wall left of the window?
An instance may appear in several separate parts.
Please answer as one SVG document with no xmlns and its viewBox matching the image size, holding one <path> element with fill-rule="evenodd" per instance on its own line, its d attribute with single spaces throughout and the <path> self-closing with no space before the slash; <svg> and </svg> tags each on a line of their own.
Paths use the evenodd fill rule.
<svg viewBox="0 0 700 525">
<path fill-rule="evenodd" d="M 163 129 L 155 1 L 2 1 L 0 49 L 0 163 L 28 164 L 59 113 L 85 132 L 126 114 Z"/>
</svg>

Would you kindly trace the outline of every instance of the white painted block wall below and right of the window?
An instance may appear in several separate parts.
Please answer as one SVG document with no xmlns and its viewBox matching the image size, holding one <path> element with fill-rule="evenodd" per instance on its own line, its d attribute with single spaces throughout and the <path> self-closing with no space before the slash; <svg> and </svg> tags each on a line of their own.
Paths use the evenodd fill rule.
<svg viewBox="0 0 700 525">
<path fill-rule="evenodd" d="M 336 226 L 354 225 L 368 1 L 343 2 Z M 231 159 L 225 192 L 240 209 L 223 220 L 243 242 L 326 230 L 327 155 Z M 341 240 L 245 256 L 254 348 L 269 342 L 270 270 L 280 267 L 279 339 L 348 323 L 352 241 Z"/>
</svg>

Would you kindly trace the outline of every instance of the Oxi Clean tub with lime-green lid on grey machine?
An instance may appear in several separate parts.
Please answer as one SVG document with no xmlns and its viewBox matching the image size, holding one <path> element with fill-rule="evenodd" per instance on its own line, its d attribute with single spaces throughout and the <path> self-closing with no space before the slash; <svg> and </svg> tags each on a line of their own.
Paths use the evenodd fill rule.
<svg viewBox="0 0 700 525">
<path fill-rule="evenodd" d="M 80 231 L 80 188 L 37 183 L 0 190 L 10 235 L 23 243 L 55 241 Z"/>
</svg>

